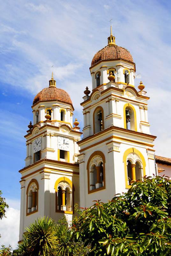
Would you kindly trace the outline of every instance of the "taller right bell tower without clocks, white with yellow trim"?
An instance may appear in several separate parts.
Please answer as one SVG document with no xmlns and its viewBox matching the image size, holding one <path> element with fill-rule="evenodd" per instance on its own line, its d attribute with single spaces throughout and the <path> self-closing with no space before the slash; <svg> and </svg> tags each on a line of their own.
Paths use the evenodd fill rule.
<svg viewBox="0 0 171 256">
<path fill-rule="evenodd" d="M 80 147 L 80 204 L 107 202 L 127 191 L 133 180 L 156 173 L 148 100 L 140 82 L 134 85 L 130 52 L 115 44 L 112 27 L 108 45 L 92 60 L 92 93 L 85 90 L 84 128 Z"/>
</svg>

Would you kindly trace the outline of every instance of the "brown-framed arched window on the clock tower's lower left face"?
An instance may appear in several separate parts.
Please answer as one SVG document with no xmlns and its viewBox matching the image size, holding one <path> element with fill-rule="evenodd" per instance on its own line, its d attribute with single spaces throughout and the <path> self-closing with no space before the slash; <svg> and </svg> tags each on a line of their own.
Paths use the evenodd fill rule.
<svg viewBox="0 0 171 256">
<path fill-rule="evenodd" d="M 38 211 L 38 189 L 39 185 L 37 180 L 31 180 L 27 187 L 27 209 L 26 215 Z"/>
</svg>

